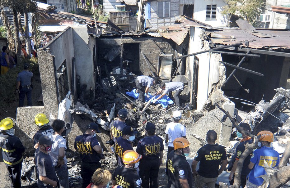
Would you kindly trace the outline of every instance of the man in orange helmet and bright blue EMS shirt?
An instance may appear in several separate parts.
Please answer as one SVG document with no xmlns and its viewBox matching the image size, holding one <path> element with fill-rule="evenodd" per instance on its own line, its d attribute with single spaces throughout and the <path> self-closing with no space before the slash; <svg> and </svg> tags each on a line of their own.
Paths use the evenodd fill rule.
<svg viewBox="0 0 290 188">
<path fill-rule="evenodd" d="M 256 188 L 263 184 L 263 178 L 259 177 L 266 174 L 264 169 L 264 161 L 268 163 L 269 167 L 277 167 L 280 161 L 279 153 L 271 146 L 274 141 L 274 135 L 270 131 L 261 131 L 257 136 L 261 135 L 258 146 L 260 149 L 254 150 L 250 159 L 249 168 L 251 169 L 248 175 L 249 179 L 246 182 L 246 187 Z"/>
</svg>

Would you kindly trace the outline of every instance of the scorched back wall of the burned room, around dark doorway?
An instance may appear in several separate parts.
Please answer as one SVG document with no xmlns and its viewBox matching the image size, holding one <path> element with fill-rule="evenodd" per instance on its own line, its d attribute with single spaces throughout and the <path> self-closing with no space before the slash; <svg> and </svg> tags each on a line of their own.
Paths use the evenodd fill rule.
<svg viewBox="0 0 290 188">
<path fill-rule="evenodd" d="M 151 71 L 148 68 L 148 65 L 141 55 L 141 52 L 144 53 L 144 55 L 149 59 L 150 68 L 153 70 L 154 73 L 157 73 L 158 69 L 158 56 L 159 54 L 174 54 L 174 47 L 175 43 L 169 39 L 163 38 L 163 37 L 123 37 L 123 38 L 98 38 L 96 39 L 96 43 L 98 46 L 98 63 L 100 65 L 107 62 L 109 71 L 112 70 L 113 67 L 120 65 L 120 55 L 119 52 L 118 56 L 114 58 L 112 62 L 109 62 L 104 59 L 104 56 L 108 54 L 110 50 L 115 48 L 118 51 L 121 51 L 121 43 L 123 44 L 139 44 L 138 48 L 133 48 L 130 50 L 127 50 L 124 48 L 123 57 L 131 58 L 131 56 L 139 56 L 139 62 L 134 61 L 134 66 L 138 66 L 140 72 L 142 72 L 144 75 L 150 75 Z M 130 55 L 132 54 L 132 55 Z M 130 60 L 125 59 L 123 60 Z M 138 74 L 138 73 L 135 73 Z"/>
</svg>

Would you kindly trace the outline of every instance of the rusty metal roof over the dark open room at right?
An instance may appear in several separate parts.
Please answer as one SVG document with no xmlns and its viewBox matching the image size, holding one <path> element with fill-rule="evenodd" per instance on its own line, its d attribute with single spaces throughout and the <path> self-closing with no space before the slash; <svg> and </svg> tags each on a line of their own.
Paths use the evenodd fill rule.
<svg viewBox="0 0 290 188">
<path fill-rule="evenodd" d="M 259 38 L 248 30 L 239 28 L 228 28 L 221 31 L 206 31 L 213 43 L 230 45 L 236 42 L 249 41 L 250 48 L 271 48 L 271 49 L 290 49 L 290 31 L 281 30 L 260 30 L 262 34 L 270 37 Z M 259 31 L 259 32 L 260 32 Z M 246 47 L 245 43 L 243 43 Z"/>
</svg>

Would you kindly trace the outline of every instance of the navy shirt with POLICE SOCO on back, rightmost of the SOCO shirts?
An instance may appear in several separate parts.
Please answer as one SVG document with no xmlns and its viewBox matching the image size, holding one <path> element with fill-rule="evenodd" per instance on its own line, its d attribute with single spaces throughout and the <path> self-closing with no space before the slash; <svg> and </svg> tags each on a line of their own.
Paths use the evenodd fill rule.
<svg viewBox="0 0 290 188">
<path fill-rule="evenodd" d="M 138 142 L 136 152 L 142 155 L 142 159 L 156 159 L 160 157 L 160 151 L 164 150 L 162 138 L 146 136 Z"/>
</svg>

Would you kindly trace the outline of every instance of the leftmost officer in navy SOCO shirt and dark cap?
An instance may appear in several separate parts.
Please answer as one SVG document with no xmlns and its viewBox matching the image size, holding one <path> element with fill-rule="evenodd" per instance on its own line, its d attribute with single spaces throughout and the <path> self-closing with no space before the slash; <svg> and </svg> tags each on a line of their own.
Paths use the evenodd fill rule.
<svg viewBox="0 0 290 188">
<path fill-rule="evenodd" d="M 96 138 L 96 132 L 100 133 L 96 123 L 90 123 L 83 135 L 77 136 L 74 141 L 74 148 L 79 152 L 81 158 L 82 188 L 86 188 L 96 169 L 101 168 L 101 157 L 103 152 L 100 143 Z"/>
</svg>

